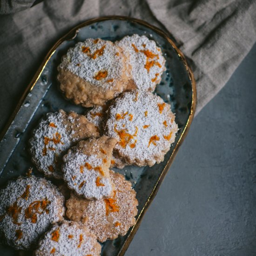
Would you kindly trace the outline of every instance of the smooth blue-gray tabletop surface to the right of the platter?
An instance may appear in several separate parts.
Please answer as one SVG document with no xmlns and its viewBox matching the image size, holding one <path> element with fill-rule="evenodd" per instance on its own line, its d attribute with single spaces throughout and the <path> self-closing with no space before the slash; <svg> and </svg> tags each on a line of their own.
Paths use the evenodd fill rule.
<svg viewBox="0 0 256 256">
<path fill-rule="evenodd" d="M 193 121 L 126 256 L 256 255 L 256 45 Z"/>
</svg>

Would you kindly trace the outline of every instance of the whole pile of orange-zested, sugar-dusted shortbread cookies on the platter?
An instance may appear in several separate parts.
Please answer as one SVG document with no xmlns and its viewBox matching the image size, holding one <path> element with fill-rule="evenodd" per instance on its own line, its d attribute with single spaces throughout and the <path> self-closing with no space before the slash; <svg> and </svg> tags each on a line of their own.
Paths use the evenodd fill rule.
<svg viewBox="0 0 256 256">
<path fill-rule="evenodd" d="M 92 108 L 48 113 L 34 129 L 32 162 L 65 185 L 29 176 L 0 191 L 0 229 L 9 245 L 37 246 L 35 255 L 98 256 L 97 240 L 124 236 L 135 224 L 135 190 L 110 168 L 153 166 L 175 141 L 175 115 L 152 93 L 164 70 L 161 48 L 146 36 L 88 39 L 67 51 L 60 89 Z"/>
</svg>

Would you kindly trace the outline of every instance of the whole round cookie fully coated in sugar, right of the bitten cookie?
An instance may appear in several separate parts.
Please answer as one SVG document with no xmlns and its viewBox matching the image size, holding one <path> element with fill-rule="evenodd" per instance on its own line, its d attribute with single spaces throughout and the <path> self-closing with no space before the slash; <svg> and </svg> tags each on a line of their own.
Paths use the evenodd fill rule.
<svg viewBox="0 0 256 256">
<path fill-rule="evenodd" d="M 170 105 L 150 92 L 123 93 L 108 108 L 105 134 L 118 139 L 115 154 L 125 162 L 152 166 L 162 162 L 178 126 Z"/>
</svg>

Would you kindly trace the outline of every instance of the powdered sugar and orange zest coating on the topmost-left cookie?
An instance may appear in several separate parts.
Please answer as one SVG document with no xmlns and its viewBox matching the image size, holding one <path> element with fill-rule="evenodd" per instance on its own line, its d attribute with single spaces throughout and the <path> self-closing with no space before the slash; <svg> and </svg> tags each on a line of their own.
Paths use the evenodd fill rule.
<svg viewBox="0 0 256 256">
<path fill-rule="evenodd" d="M 111 89 L 122 76 L 123 54 L 110 41 L 90 38 L 69 48 L 60 68 L 69 70 L 91 84 Z"/>
</svg>

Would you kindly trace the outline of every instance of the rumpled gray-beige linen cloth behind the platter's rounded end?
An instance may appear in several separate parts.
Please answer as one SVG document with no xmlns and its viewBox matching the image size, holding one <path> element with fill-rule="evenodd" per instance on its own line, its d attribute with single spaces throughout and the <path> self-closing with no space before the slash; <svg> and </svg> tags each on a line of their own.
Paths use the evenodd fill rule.
<svg viewBox="0 0 256 256">
<path fill-rule="evenodd" d="M 140 18 L 172 33 L 195 74 L 198 113 L 255 43 L 255 14 L 256 0 L 44 0 L 2 15 L 0 129 L 54 42 L 82 21 L 106 15 Z"/>
</svg>

